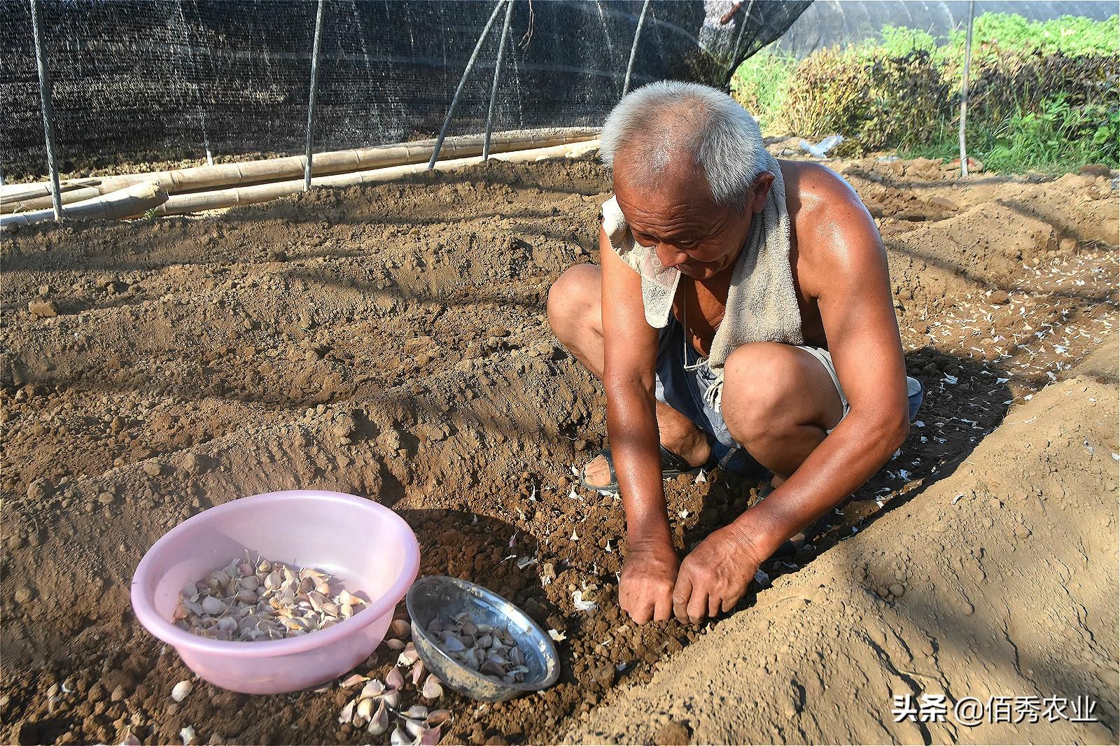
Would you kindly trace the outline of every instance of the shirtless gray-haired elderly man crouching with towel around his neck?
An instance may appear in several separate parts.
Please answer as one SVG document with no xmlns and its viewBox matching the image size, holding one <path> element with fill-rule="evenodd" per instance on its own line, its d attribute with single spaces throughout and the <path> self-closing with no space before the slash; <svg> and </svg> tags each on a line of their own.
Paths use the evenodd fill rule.
<svg viewBox="0 0 1120 746">
<path fill-rule="evenodd" d="M 836 172 L 775 160 L 732 99 L 674 82 L 623 99 L 600 152 L 601 265 L 556 281 L 549 321 L 606 391 L 612 448 L 584 483 L 622 495 L 622 606 L 696 623 L 890 458 L 921 386 L 881 240 Z M 679 562 L 663 477 L 744 450 L 773 492 Z"/>
</svg>

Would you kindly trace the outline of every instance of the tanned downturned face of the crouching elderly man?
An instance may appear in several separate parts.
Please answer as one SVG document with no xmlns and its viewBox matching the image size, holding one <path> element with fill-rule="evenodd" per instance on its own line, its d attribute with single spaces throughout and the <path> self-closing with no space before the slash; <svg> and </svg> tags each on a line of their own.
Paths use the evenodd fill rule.
<svg viewBox="0 0 1120 746">
<path fill-rule="evenodd" d="M 707 180 L 691 165 L 670 162 L 652 188 L 626 178 L 625 160 L 615 164 L 615 196 L 634 240 L 655 246 L 664 267 L 707 280 L 730 267 L 750 227 L 750 196 L 744 208 L 721 207 Z"/>
</svg>

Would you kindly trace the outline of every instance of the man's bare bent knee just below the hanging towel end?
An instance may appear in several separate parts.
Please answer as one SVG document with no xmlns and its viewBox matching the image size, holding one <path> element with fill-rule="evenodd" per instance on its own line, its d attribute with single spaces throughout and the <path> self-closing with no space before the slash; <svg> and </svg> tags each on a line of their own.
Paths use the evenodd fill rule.
<svg viewBox="0 0 1120 746">
<path fill-rule="evenodd" d="M 748 446 L 796 422 L 787 417 L 796 380 L 796 351 L 775 342 L 737 347 L 724 365 L 722 410 L 727 429 Z M 788 422 L 787 422 L 788 420 Z"/>
</svg>

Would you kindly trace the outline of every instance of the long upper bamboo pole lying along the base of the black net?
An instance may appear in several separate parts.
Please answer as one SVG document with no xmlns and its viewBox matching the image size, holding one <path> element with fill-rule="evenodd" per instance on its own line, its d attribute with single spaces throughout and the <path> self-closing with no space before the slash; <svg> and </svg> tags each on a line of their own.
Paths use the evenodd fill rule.
<svg viewBox="0 0 1120 746">
<path fill-rule="evenodd" d="M 525 148 L 543 148 L 580 142 L 597 137 L 598 128 L 566 127 L 510 130 L 494 133 L 491 138 L 491 150 L 494 152 L 508 152 Z M 321 152 L 315 157 L 314 176 L 345 174 L 376 167 L 402 166 L 421 160 L 427 161 L 435 149 L 435 140 L 420 140 L 416 142 L 375 146 L 372 148 Z M 480 134 L 469 134 L 448 138 L 444 143 L 442 152 L 447 157 L 464 158 L 477 156 L 482 152 L 482 149 L 483 137 Z M 100 184 L 111 187 L 110 190 L 112 190 L 141 181 L 158 181 L 169 194 L 180 194 L 183 192 L 296 178 L 304 175 L 304 156 L 289 156 L 286 158 L 249 160 L 240 164 L 196 166 L 170 171 L 123 174 L 120 176 L 101 177 Z M 66 181 L 67 185 L 81 184 L 83 186 L 87 186 L 90 183 L 91 179 Z M 39 189 L 39 192 L 29 192 L 32 189 Z M 3 202 L 8 202 L 13 198 L 29 198 L 31 196 L 48 194 L 50 194 L 48 184 L 12 184 L 0 190 L 0 198 Z"/>
</svg>

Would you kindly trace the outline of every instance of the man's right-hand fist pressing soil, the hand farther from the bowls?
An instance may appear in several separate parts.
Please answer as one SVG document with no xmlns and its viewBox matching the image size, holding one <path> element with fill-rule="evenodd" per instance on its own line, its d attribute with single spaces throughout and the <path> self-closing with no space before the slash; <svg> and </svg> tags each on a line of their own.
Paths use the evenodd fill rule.
<svg viewBox="0 0 1120 746">
<path fill-rule="evenodd" d="M 763 559 L 735 524 L 713 531 L 681 562 L 673 589 L 673 614 L 697 624 L 730 612 L 755 578 Z"/>
</svg>

